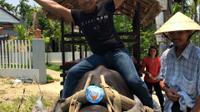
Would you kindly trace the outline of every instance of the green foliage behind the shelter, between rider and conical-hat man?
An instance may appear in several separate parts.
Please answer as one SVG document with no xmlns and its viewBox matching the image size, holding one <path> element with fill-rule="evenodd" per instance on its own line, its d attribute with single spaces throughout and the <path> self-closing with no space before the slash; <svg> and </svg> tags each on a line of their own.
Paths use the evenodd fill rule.
<svg viewBox="0 0 200 112">
<path fill-rule="evenodd" d="M 116 30 L 118 32 L 132 32 L 133 28 L 132 28 L 132 20 L 130 18 L 128 18 L 127 16 L 115 16 L 114 19 L 115 22 L 115 26 L 116 26 Z M 156 30 L 155 27 L 155 23 L 150 24 L 147 27 L 142 27 L 141 31 L 140 31 L 140 50 L 141 50 L 141 59 L 147 55 L 147 51 L 148 48 L 151 45 L 156 45 L 156 38 L 154 35 L 154 32 Z M 134 42 L 134 37 L 133 35 L 131 37 L 128 36 L 124 36 L 122 37 L 124 39 L 133 39 L 132 43 L 126 44 L 126 46 L 128 47 L 129 51 L 132 51 L 132 47 L 133 44 L 135 44 Z"/>
</svg>

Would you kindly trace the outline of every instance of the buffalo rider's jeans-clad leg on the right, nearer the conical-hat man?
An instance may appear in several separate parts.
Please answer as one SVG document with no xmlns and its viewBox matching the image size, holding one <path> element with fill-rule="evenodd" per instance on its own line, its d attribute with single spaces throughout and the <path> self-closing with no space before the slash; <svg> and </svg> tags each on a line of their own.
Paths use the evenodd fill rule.
<svg viewBox="0 0 200 112">
<path fill-rule="evenodd" d="M 130 89 L 132 89 L 141 102 L 153 108 L 152 97 L 148 92 L 146 84 L 138 76 L 132 59 L 127 52 L 125 52 L 125 50 L 112 52 L 107 54 L 106 59 L 112 67 L 122 75 Z"/>
</svg>

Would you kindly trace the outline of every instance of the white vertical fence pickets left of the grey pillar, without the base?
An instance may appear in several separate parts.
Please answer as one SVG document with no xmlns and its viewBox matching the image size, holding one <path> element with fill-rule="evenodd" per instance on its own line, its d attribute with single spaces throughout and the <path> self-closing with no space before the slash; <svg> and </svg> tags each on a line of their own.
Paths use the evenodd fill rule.
<svg viewBox="0 0 200 112">
<path fill-rule="evenodd" d="M 0 69 L 32 69 L 30 40 L 0 41 Z"/>
</svg>

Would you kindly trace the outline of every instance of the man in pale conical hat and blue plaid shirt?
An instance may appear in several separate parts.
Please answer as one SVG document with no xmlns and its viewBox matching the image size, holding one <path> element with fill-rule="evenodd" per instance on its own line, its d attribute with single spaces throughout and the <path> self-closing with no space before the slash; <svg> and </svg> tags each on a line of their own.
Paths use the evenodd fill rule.
<svg viewBox="0 0 200 112">
<path fill-rule="evenodd" d="M 200 112 L 200 49 L 190 42 L 199 30 L 196 22 L 177 12 L 155 32 L 173 42 L 161 56 L 165 112 Z"/>
</svg>

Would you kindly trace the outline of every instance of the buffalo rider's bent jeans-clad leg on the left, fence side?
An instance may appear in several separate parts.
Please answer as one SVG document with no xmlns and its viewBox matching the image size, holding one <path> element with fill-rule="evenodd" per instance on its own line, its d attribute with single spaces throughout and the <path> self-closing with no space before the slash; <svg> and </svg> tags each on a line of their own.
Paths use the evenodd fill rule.
<svg viewBox="0 0 200 112">
<path fill-rule="evenodd" d="M 106 65 L 106 61 L 102 56 L 94 54 L 69 69 L 64 81 L 62 98 L 69 97 L 82 75 L 95 69 L 98 65 Z"/>
</svg>

